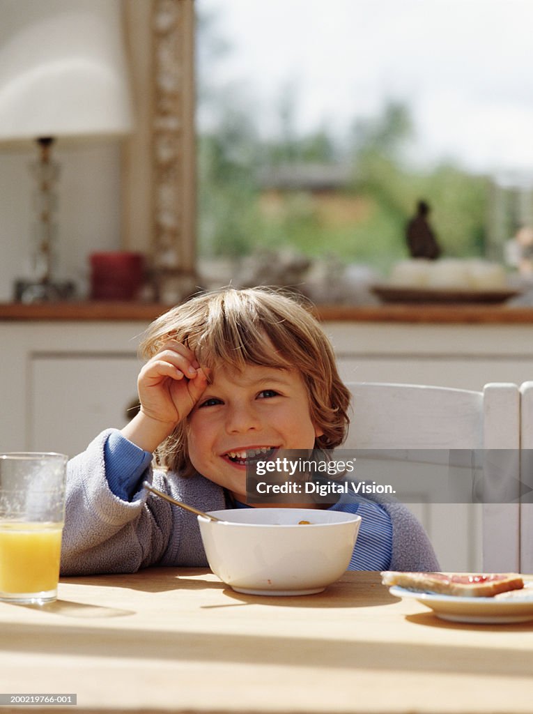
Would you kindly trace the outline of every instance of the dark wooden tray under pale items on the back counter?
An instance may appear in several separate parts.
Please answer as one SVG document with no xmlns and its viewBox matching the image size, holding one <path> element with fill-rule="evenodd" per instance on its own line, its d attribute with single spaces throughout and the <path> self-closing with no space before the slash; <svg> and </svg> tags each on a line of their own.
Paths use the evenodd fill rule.
<svg viewBox="0 0 533 714">
<path fill-rule="evenodd" d="M 404 288 L 374 285 L 372 292 L 385 303 L 503 303 L 519 294 L 510 288 L 499 290 L 468 290 L 439 288 Z"/>
</svg>

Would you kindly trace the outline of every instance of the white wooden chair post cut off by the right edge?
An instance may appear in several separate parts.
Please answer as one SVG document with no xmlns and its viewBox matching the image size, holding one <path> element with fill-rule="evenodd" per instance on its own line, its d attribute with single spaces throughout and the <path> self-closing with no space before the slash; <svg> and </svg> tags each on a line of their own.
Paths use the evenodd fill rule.
<svg viewBox="0 0 533 714">
<path fill-rule="evenodd" d="M 520 447 L 522 463 L 520 480 L 533 488 L 533 382 L 520 387 Z M 520 570 L 533 573 L 533 493 L 520 504 Z M 529 501 L 529 503 L 526 503 Z"/>
</svg>

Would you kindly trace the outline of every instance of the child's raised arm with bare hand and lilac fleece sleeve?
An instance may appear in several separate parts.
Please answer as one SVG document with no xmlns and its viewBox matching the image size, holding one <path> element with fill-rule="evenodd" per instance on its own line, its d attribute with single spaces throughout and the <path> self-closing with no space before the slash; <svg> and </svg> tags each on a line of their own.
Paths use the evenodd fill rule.
<svg viewBox="0 0 533 714">
<path fill-rule="evenodd" d="M 205 386 L 207 376 L 194 353 L 169 338 L 141 369 L 141 411 L 123 428 L 122 436 L 141 453 L 152 453 L 186 418 Z M 138 474 L 128 469 L 122 475 L 106 471 L 106 442 L 112 433 L 103 432 L 68 463 L 61 548 L 64 575 L 133 573 L 158 563 L 172 547 L 171 506 L 147 496 Z M 163 491 L 165 478 L 156 476 L 156 485 Z"/>
</svg>

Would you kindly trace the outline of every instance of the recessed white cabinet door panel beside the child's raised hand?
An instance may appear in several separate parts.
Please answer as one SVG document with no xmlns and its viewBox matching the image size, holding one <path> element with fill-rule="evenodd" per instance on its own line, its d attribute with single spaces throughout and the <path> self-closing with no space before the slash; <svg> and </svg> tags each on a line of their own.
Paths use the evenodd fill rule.
<svg viewBox="0 0 533 714">
<path fill-rule="evenodd" d="M 136 402 L 136 356 L 34 355 L 30 361 L 33 451 L 74 456 L 103 429 L 122 428 Z"/>
</svg>

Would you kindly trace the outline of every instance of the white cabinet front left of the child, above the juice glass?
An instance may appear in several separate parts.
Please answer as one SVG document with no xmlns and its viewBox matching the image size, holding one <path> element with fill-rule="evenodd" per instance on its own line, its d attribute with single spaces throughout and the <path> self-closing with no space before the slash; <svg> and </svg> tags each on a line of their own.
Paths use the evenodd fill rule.
<svg viewBox="0 0 533 714">
<path fill-rule="evenodd" d="M 0 323 L 0 449 L 73 456 L 121 428 L 137 395 L 146 323 Z"/>
</svg>

